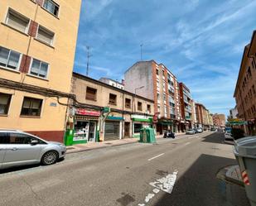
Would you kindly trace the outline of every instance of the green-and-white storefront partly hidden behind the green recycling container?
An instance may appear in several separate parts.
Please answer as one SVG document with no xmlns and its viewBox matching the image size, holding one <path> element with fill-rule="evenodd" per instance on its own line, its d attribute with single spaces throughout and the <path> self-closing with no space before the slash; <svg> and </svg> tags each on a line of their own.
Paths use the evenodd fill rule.
<svg viewBox="0 0 256 206">
<path fill-rule="evenodd" d="M 140 137 L 140 131 L 142 128 L 152 127 L 152 117 L 144 115 L 132 115 L 133 121 L 133 137 Z"/>
</svg>

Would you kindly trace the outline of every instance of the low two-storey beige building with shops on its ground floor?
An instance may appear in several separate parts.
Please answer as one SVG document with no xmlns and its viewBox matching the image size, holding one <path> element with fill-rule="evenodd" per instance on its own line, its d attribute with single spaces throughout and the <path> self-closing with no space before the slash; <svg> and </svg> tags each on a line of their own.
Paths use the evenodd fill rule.
<svg viewBox="0 0 256 206">
<path fill-rule="evenodd" d="M 74 117 L 74 143 L 139 137 L 142 127 L 152 127 L 154 102 L 138 94 L 73 73 L 72 93 L 77 106 Z M 80 105 L 80 106 L 79 106 Z M 104 108 L 109 110 L 104 113 Z"/>
</svg>

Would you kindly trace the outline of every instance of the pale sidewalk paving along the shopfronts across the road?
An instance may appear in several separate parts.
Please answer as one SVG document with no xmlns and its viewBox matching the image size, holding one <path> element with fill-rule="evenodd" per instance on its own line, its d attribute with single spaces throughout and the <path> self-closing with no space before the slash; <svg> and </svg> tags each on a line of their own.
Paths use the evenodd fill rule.
<svg viewBox="0 0 256 206">
<path fill-rule="evenodd" d="M 176 133 L 176 136 L 184 135 L 185 133 Z M 156 138 L 162 138 L 163 135 L 157 135 Z M 121 146 L 121 145 L 127 145 L 127 144 L 133 144 L 138 142 L 139 138 L 126 138 L 121 140 L 113 140 L 113 141 L 100 141 L 100 142 L 88 142 L 86 144 L 78 144 L 73 146 L 66 146 L 66 153 L 75 153 L 80 151 L 91 151 L 95 149 L 105 148 L 109 146 Z"/>
</svg>

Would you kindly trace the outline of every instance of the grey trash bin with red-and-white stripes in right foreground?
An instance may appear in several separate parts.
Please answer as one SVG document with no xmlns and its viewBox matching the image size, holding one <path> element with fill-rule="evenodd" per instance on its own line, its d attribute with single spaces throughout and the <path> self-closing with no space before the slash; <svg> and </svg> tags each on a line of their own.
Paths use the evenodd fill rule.
<svg viewBox="0 0 256 206">
<path fill-rule="evenodd" d="M 244 137 L 234 141 L 234 156 L 239 162 L 250 204 L 256 206 L 256 137 Z"/>
</svg>

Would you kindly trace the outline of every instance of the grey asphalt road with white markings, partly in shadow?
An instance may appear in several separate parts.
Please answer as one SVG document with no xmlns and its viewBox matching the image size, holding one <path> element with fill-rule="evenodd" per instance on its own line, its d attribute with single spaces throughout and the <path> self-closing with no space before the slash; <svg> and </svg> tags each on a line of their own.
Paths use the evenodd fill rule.
<svg viewBox="0 0 256 206">
<path fill-rule="evenodd" d="M 249 206 L 243 188 L 216 179 L 234 165 L 219 132 L 66 156 L 51 166 L 5 170 L 0 205 Z"/>
</svg>

